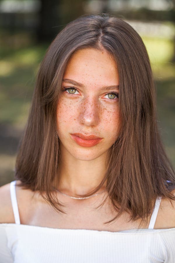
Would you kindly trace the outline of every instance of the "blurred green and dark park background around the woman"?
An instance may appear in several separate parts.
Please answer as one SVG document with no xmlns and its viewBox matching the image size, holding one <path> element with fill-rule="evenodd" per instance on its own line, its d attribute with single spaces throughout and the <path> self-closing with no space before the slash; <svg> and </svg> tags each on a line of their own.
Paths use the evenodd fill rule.
<svg viewBox="0 0 175 263">
<path fill-rule="evenodd" d="M 15 158 L 39 64 L 64 25 L 95 12 L 123 18 L 141 35 L 157 89 L 157 122 L 175 168 L 174 1 L 0 0 L 0 186 L 14 179 Z"/>
</svg>

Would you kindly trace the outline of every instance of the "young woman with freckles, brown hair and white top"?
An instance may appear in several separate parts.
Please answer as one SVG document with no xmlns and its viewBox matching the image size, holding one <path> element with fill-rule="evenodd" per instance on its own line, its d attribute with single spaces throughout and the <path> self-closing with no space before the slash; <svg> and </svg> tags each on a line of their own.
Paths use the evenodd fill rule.
<svg viewBox="0 0 175 263">
<path fill-rule="evenodd" d="M 51 43 L 0 200 L 0 262 L 175 262 L 175 173 L 128 23 L 84 15 Z"/>
</svg>

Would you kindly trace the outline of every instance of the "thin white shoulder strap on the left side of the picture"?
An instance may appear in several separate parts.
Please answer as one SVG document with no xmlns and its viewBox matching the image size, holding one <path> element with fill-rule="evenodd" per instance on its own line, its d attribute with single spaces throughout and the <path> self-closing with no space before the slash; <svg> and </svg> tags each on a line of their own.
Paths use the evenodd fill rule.
<svg viewBox="0 0 175 263">
<path fill-rule="evenodd" d="M 15 224 L 20 224 L 20 215 L 19 215 L 17 199 L 16 199 L 16 181 L 12 181 L 10 183 L 10 196 L 11 196 L 13 214 L 15 217 Z"/>
</svg>

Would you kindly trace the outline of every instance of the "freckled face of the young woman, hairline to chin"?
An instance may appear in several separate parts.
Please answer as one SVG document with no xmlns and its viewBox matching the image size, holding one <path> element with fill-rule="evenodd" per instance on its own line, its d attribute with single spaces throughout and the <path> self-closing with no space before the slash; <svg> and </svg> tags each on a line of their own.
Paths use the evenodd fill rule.
<svg viewBox="0 0 175 263">
<path fill-rule="evenodd" d="M 118 86 L 116 65 L 106 51 L 86 48 L 71 56 L 57 104 L 61 155 L 93 160 L 108 154 L 118 137 Z"/>
</svg>

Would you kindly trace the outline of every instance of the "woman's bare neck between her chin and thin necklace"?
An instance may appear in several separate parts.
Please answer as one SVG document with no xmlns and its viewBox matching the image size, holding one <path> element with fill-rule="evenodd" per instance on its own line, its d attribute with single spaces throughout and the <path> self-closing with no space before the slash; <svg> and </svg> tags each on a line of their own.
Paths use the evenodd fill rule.
<svg viewBox="0 0 175 263">
<path fill-rule="evenodd" d="M 62 154 L 61 157 L 56 186 L 59 191 L 67 195 L 89 195 L 105 175 L 107 169 L 105 154 L 89 161 L 78 160 L 68 153 Z M 97 193 L 105 188 L 106 182 Z"/>
</svg>

